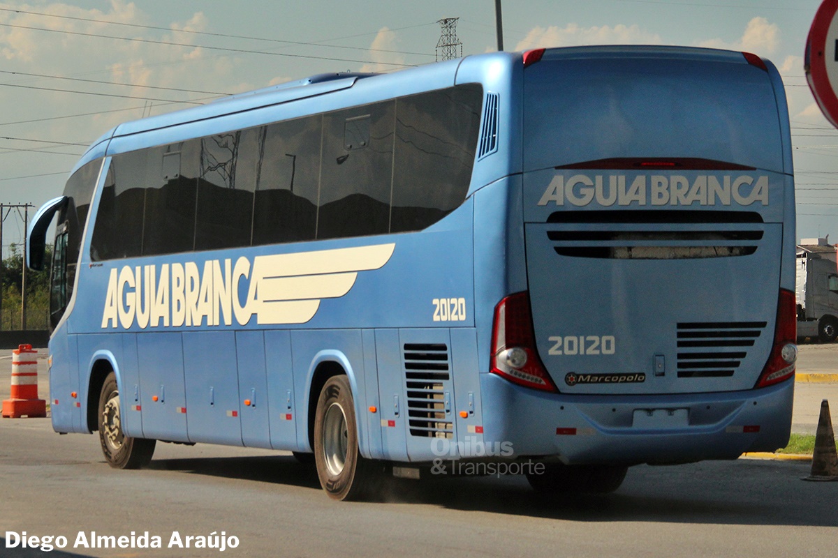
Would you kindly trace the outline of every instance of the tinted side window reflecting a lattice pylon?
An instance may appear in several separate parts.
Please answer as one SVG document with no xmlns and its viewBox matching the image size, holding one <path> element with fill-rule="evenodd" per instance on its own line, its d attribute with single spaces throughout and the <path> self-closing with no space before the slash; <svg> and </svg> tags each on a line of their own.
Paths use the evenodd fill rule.
<svg viewBox="0 0 838 558">
<path fill-rule="evenodd" d="M 236 131 L 201 140 L 195 249 L 249 246 L 256 130 Z M 251 168 L 249 168 L 249 166 Z"/>
</svg>

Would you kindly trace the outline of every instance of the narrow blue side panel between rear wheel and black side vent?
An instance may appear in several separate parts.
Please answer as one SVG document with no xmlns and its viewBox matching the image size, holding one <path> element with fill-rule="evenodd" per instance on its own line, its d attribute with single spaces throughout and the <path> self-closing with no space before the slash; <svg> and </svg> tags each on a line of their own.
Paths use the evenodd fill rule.
<svg viewBox="0 0 838 558">
<path fill-rule="evenodd" d="M 380 394 L 381 457 L 407 461 L 406 402 L 399 330 L 375 330 L 375 354 Z"/>
</svg>

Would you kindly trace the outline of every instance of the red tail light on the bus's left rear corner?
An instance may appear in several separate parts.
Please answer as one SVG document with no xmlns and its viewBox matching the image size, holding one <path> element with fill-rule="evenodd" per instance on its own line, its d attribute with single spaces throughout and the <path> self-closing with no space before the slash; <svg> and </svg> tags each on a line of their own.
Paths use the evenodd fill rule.
<svg viewBox="0 0 838 558">
<path fill-rule="evenodd" d="M 494 307 L 489 370 L 521 386 L 558 392 L 535 351 L 529 293 L 510 294 Z"/>
</svg>

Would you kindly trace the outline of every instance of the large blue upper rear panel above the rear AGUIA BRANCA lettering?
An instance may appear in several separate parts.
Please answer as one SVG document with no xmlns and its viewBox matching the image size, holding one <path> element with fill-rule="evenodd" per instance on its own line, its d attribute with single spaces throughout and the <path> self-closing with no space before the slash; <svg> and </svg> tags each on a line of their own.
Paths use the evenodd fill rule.
<svg viewBox="0 0 838 558">
<path fill-rule="evenodd" d="M 702 59 L 545 60 L 525 71 L 525 171 L 696 157 L 783 171 L 768 74 Z"/>
</svg>

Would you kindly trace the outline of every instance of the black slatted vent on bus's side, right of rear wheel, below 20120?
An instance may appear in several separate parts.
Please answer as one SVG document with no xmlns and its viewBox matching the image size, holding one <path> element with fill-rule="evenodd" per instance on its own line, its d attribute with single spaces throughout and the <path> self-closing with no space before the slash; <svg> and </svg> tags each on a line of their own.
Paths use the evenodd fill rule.
<svg viewBox="0 0 838 558">
<path fill-rule="evenodd" d="M 448 347 L 407 343 L 404 362 L 411 436 L 453 438 Z"/>
</svg>

